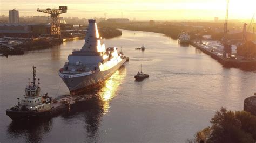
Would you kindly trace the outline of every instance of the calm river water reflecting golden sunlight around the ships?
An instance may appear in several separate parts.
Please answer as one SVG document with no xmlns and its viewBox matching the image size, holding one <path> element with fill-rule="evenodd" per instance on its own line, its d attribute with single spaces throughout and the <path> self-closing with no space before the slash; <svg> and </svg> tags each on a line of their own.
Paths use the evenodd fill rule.
<svg viewBox="0 0 256 143">
<path fill-rule="evenodd" d="M 210 125 L 221 106 L 242 110 L 256 91 L 256 72 L 225 68 L 198 49 L 151 32 L 122 30 L 103 40 L 123 47 L 130 61 L 95 91 L 79 110 L 49 120 L 12 123 L 5 109 L 16 105 L 37 66 L 42 94 L 69 95 L 58 76 L 72 49 L 84 40 L 0 59 L 0 142 L 185 142 Z M 134 48 L 145 45 L 144 52 Z M 119 48 L 120 50 L 120 48 Z M 141 82 L 134 75 L 150 77 Z"/>
</svg>

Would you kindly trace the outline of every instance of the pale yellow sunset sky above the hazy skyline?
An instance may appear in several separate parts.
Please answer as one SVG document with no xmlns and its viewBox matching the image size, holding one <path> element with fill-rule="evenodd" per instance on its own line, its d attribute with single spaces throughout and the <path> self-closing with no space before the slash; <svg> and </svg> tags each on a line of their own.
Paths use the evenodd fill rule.
<svg viewBox="0 0 256 143">
<path fill-rule="evenodd" d="M 104 17 L 136 20 L 213 19 L 225 18 L 225 0 L 0 0 L 0 15 L 8 16 L 8 10 L 16 8 L 20 16 L 45 15 L 36 9 L 68 6 L 63 17 Z M 256 12 L 256 0 L 230 0 L 230 19 L 251 19 Z"/>
</svg>

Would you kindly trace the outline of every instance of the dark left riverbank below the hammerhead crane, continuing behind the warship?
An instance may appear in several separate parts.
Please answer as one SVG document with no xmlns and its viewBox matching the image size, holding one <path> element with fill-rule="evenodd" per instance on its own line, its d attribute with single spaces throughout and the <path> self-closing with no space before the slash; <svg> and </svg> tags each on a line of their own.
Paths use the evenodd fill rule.
<svg viewBox="0 0 256 143">
<path fill-rule="evenodd" d="M 84 33 L 84 32 L 83 32 Z M 85 34 L 80 33 L 77 36 L 65 38 L 2 38 L 0 44 L 0 53 L 8 57 L 8 55 L 23 55 L 26 51 L 47 49 L 62 44 L 63 42 L 80 40 L 85 38 Z M 119 37 L 122 31 L 115 28 L 100 28 L 100 36 L 105 39 Z"/>
</svg>

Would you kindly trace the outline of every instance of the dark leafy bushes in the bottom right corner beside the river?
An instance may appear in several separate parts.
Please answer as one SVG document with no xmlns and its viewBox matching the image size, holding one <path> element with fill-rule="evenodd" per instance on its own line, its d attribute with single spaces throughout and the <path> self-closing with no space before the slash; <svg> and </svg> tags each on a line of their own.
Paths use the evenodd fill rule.
<svg viewBox="0 0 256 143">
<path fill-rule="evenodd" d="M 196 133 L 188 142 L 255 142 L 256 116 L 245 111 L 221 108 L 211 119 L 211 127 Z"/>
</svg>

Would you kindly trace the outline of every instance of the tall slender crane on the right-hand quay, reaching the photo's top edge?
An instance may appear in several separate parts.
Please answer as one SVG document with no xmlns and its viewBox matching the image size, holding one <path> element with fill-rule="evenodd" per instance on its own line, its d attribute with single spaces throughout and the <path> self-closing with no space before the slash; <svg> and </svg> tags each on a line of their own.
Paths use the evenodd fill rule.
<svg viewBox="0 0 256 143">
<path fill-rule="evenodd" d="M 224 23 L 224 37 L 223 37 L 223 56 L 226 58 L 226 54 L 231 57 L 232 50 L 231 45 L 228 45 L 228 30 L 227 30 L 227 23 L 228 23 L 228 8 L 229 8 L 230 1 L 227 0 L 227 9 L 226 9 L 226 17 Z"/>
</svg>

